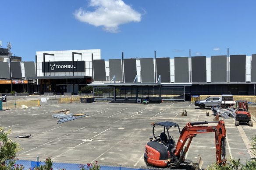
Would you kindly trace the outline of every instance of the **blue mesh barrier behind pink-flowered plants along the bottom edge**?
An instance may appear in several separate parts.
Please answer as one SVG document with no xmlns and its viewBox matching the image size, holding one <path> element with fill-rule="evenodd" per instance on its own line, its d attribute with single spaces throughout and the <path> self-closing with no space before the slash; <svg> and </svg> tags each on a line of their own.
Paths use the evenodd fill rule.
<svg viewBox="0 0 256 170">
<path fill-rule="evenodd" d="M 44 162 L 36 162 L 30 160 L 17 160 L 16 164 L 21 164 L 25 168 L 24 170 L 28 170 L 29 168 L 33 167 L 34 165 L 44 165 Z M 53 170 L 60 170 L 65 168 L 66 170 L 80 170 L 80 164 L 75 163 L 53 163 Z M 100 164 L 99 164 L 100 165 Z M 85 167 L 87 167 L 85 165 Z M 108 166 L 100 166 L 100 170 L 144 170 L 144 169 L 136 169 L 136 168 L 127 168 L 127 167 L 108 167 Z"/>
</svg>

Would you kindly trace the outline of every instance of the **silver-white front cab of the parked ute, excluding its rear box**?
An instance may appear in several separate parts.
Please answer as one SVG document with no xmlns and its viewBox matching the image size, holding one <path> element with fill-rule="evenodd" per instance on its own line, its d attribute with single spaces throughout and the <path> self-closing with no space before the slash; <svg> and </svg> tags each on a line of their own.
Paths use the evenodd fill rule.
<svg viewBox="0 0 256 170">
<path fill-rule="evenodd" d="M 221 97 L 206 97 L 204 100 L 195 101 L 195 106 L 199 106 L 200 109 L 206 107 L 218 106 L 221 104 Z"/>
</svg>

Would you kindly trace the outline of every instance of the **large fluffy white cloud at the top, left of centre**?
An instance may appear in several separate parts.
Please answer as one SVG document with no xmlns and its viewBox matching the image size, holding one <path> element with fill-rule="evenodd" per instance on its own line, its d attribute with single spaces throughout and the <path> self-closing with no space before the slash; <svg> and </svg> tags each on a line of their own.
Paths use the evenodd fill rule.
<svg viewBox="0 0 256 170">
<path fill-rule="evenodd" d="M 141 21 L 142 14 L 122 0 L 90 0 L 89 7 L 96 9 L 86 11 L 79 8 L 74 13 L 75 18 L 96 27 L 103 26 L 103 30 L 107 32 L 117 33 L 119 25 Z"/>
</svg>

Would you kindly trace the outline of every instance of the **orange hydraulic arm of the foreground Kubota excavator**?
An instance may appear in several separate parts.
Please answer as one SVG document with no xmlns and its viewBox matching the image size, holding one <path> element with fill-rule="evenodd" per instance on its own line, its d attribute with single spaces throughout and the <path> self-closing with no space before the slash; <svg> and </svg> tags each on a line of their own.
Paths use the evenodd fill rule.
<svg viewBox="0 0 256 170">
<path fill-rule="evenodd" d="M 209 123 L 218 123 L 217 126 L 198 126 L 206 125 Z M 174 155 L 179 158 L 178 164 L 185 159 L 185 153 L 188 152 L 190 143 L 193 137 L 199 133 L 215 133 L 215 147 L 216 147 L 216 161 L 219 165 L 224 165 L 226 163 L 225 158 L 225 139 L 226 139 L 226 128 L 224 121 L 202 121 L 202 122 L 188 122 L 186 126 L 182 129 L 181 135 L 178 139 L 176 148 L 174 150 Z M 187 142 L 188 140 L 188 142 Z M 185 143 L 187 145 L 185 146 Z M 185 146 L 185 149 L 183 147 Z"/>
</svg>

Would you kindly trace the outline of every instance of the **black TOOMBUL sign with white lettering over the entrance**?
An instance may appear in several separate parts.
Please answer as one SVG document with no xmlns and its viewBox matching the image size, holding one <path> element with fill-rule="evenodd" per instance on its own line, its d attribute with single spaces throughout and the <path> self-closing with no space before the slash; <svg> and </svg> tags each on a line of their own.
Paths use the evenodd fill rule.
<svg viewBox="0 0 256 170">
<path fill-rule="evenodd" d="M 42 62 L 43 73 L 50 72 L 84 72 L 85 71 L 85 61 L 56 61 L 56 62 Z M 44 70 L 45 69 L 45 70 Z"/>
</svg>

